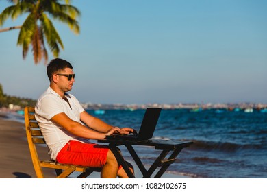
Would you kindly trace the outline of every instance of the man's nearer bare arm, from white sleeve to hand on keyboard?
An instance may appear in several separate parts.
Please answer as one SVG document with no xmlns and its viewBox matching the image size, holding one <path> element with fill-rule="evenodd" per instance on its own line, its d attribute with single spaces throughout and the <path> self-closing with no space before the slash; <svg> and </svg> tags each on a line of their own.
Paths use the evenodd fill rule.
<svg viewBox="0 0 267 192">
<path fill-rule="evenodd" d="M 81 123 L 73 121 L 64 112 L 53 116 L 51 118 L 51 121 L 53 121 L 54 123 L 58 123 L 60 126 L 65 128 L 71 134 L 84 137 L 87 139 L 105 139 L 106 135 L 110 135 L 116 131 L 119 131 L 118 128 L 113 128 L 112 126 L 110 126 L 110 129 L 106 128 L 105 132 L 91 130 L 89 128 L 86 128 L 86 126 L 81 125 Z"/>
</svg>

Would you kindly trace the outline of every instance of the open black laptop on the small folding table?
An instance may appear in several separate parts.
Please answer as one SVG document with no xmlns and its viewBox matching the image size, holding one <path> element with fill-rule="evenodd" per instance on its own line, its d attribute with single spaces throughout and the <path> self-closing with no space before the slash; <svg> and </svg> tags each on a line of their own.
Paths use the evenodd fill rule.
<svg viewBox="0 0 267 192">
<path fill-rule="evenodd" d="M 161 110 L 161 108 L 147 108 L 146 112 L 144 113 L 139 133 L 135 131 L 133 134 L 127 135 L 112 134 L 105 136 L 106 139 L 125 139 L 137 141 L 151 139 L 157 125 L 157 120 L 160 117 Z"/>
</svg>

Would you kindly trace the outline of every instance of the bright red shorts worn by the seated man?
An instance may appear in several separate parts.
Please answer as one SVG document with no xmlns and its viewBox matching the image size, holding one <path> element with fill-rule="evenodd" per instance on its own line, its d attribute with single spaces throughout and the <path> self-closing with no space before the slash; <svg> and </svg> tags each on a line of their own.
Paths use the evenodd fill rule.
<svg viewBox="0 0 267 192">
<path fill-rule="evenodd" d="M 60 150 L 57 161 L 88 167 L 103 167 L 107 160 L 108 150 L 108 146 L 105 145 L 71 140 Z"/>
</svg>

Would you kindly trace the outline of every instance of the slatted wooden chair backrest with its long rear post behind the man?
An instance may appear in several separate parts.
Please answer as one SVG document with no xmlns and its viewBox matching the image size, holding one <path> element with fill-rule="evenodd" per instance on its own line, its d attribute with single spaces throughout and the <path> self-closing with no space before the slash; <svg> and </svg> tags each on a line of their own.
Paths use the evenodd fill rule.
<svg viewBox="0 0 267 192">
<path fill-rule="evenodd" d="M 27 141 L 29 144 L 29 152 L 31 154 L 32 163 L 38 178 L 44 178 L 44 173 L 40 166 L 40 159 L 36 150 L 35 144 L 45 144 L 44 136 L 39 128 L 39 125 L 34 116 L 34 107 L 27 106 L 24 109 L 25 129 L 27 134 Z"/>
</svg>

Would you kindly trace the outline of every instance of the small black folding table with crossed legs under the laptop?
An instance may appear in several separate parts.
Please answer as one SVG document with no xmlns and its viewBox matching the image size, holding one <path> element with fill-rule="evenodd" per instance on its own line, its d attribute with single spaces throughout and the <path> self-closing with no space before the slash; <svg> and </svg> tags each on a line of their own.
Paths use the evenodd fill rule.
<svg viewBox="0 0 267 192">
<path fill-rule="evenodd" d="M 181 152 L 181 149 L 184 147 L 188 147 L 193 142 L 192 141 L 173 141 L 173 140 L 163 140 L 163 139 L 149 139 L 149 140 L 142 140 L 142 141 L 132 141 L 132 140 L 125 140 L 125 139 L 101 139 L 98 140 L 99 143 L 109 143 L 110 149 L 112 150 L 114 156 L 118 160 L 118 163 L 123 166 L 125 172 L 129 176 L 129 178 L 135 178 L 133 173 L 131 173 L 129 169 L 129 165 L 127 165 L 126 161 L 124 160 L 123 156 L 120 153 L 120 150 L 117 146 L 125 145 L 127 147 L 129 153 L 133 157 L 133 160 L 138 165 L 143 178 L 151 178 L 151 175 L 157 169 L 157 167 L 161 167 L 159 171 L 155 174 L 154 178 L 160 178 L 166 169 L 172 164 L 175 163 L 175 158 Z M 160 155 L 155 159 L 154 163 L 149 167 L 147 170 L 142 161 L 140 160 L 138 154 L 133 149 L 133 145 L 142 145 L 142 146 L 152 146 L 156 150 L 161 150 L 162 152 Z M 171 152 L 170 156 L 166 158 L 168 153 Z"/>
</svg>

